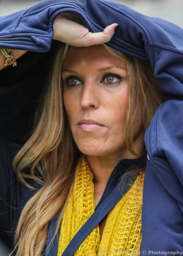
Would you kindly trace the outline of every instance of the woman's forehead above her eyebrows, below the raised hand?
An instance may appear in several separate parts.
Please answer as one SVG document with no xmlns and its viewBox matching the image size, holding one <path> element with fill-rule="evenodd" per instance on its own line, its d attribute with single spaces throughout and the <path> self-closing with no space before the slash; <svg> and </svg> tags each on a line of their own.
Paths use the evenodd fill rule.
<svg viewBox="0 0 183 256">
<path fill-rule="evenodd" d="M 81 67 L 84 65 L 113 65 L 126 68 L 126 63 L 107 51 L 104 45 L 92 45 L 89 47 L 70 46 L 63 63 L 63 69 Z"/>
</svg>

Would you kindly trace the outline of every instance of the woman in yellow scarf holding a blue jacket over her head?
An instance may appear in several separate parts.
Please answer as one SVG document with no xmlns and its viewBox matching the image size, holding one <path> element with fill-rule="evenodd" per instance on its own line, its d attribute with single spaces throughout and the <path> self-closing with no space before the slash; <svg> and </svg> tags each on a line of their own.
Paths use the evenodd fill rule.
<svg viewBox="0 0 183 256">
<path fill-rule="evenodd" d="M 28 17 L 33 15 L 39 15 L 42 18 L 40 24 L 47 23 L 45 22 L 47 15 L 45 14 L 49 13 L 50 22 L 55 17 L 58 17 L 54 23 L 54 38 L 74 45 L 69 47 L 67 45 L 64 47 L 59 46 L 58 48 L 53 45 L 51 52 L 45 56 L 45 59 L 40 57 L 40 60 L 35 60 L 35 57 L 37 58 L 39 54 L 28 55 L 28 53 L 22 56 L 20 60 L 20 65 L 22 65 L 21 63 L 24 65 L 26 61 L 29 61 L 29 58 L 44 65 L 44 61 L 49 60 L 52 52 L 56 51 L 54 53 L 56 60 L 52 70 L 51 82 L 45 88 L 45 96 L 42 96 L 44 99 L 41 100 L 42 106 L 36 111 L 35 129 L 24 146 L 21 149 L 19 148 L 19 153 L 14 160 L 14 168 L 20 181 L 29 189 L 20 185 L 19 182 L 15 183 L 15 186 L 19 187 L 20 196 L 28 193 L 28 196 L 22 199 L 23 201 L 25 201 L 25 198 L 26 200 L 31 198 L 26 207 L 24 207 L 19 220 L 19 226 L 17 227 L 17 239 L 19 240 L 17 255 L 40 255 L 44 252 L 46 240 L 47 255 L 49 255 L 48 253 L 51 253 L 51 255 L 56 255 L 55 253 L 62 255 L 72 237 L 77 232 L 80 232 L 79 230 L 88 222 L 87 220 L 90 216 L 95 216 L 99 226 L 96 225 L 96 227 L 92 228 L 84 242 L 82 239 L 85 237 L 79 236 L 81 241 L 79 240 L 79 244 L 76 246 L 76 255 L 96 255 L 97 253 L 106 255 L 119 255 L 119 253 L 138 254 L 140 244 L 141 250 L 143 249 L 141 252 L 145 253 L 145 250 L 148 250 L 150 255 L 153 255 L 157 250 L 159 250 L 159 254 L 167 251 L 174 252 L 174 250 L 180 252 L 182 246 L 180 241 L 182 234 L 180 225 L 182 221 L 182 212 L 180 210 L 182 204 L 180 196 L 182 192 L 180 185 L 181 173 L 173 166 L 174 160 L 172 159 L 176 158 L 171 156 L 179 150 L 175 142 L 177 141 L 176 138 L 180 138 L 181 133 L 177 137 L 176 132 L 174 132 L 174 137 L 171 139 L 171 132 L 164 132 L 163 135 L 166 140 L 168 139 L 168 142 L 166 141 L 165 144 L 161 144 L 160 140 L 157 141 L 159 148 L 163 145 L 164 148 L 162 150 L 164 150 L 166 157 L 162 150 L 161 154 L 154 150 L 154 138 L 157 138 L 155 137 L 155 132 L 162 134 L 163 121 L 171 113 L 173 113 L 175 120 L 177 120 L 175 106 L 181 104 L 177 95 L 181 96 L 182 88 L 179 88 L 175 93 L 173 92 L 176 94 L 173 95 L 171 89 L 164 88 L 164 81 L 170 83 L 171 79 L 174 79 L 175 88 L 179 87 L 180 83 L 182 83 L 182 78 L 179 76 L 179 72 L 177 74 L 177 69 L 175 70 L 174 68 L 175 64 L 172 62 L 172 60 L 175 61 L 175 58 L 171 56 L 172 54 L 173 57 L 176 56 L 177 61 L 182 57 L 180 49 L 175 51 L 174 44 L 177 42 L 176 46 L 178 48 L 179 40 L 176 40 L 176 35 L 173 35 L 175 40 L 172 43 L 170 36 L 167 36 L 168 32 L 171 32 L 172 35 L 171 30 L 175 31 L 175 28 L 180 33 L 182 33 L 182 29 L 171 25 L 172 28 L 168 28 L 170 31 L 162 31 L 162 28 L 165 29 L 166 27 L 166 22 L 161 24 L 161 20 L 151 20 L 116 3 L 109 4 L 100 1 L 97 1 L 95 4 L 93 4 L 93 1 L 88 1 L 87 5 L 85 2 L 82 4 L 81 2 L 67 3 L 67 12 L 79 12 L 84 24 L 89 28 L 92 28 L 93 24 L 95 26 L 96 24 L 104 26 L 104 18 L 97 20 L 98 23 L 95 23 L 97 16 L 93 16 L 93 13 L 99 12 L 99 10 L 102 14 L 111 14 L 113 18 L 111 18 L 111 23 L 118 18 L 120 26 L 123 26 L 127 33 L 119 30 L 119 26 L 116 32 L 118 36 L 116 38 L 114 36 L 109 45 L 115 49 L 121 47 L 120 49 L 123 52 L 131 55 L 129 56 L 113 48 L 106 48 L 104 45 L 88 46 L 92 45 L 93 41 L 90 41 L 91 34 L 88 34 L 87 29 L 84 29 L 82 25 L 75 25 L 79 26 L 77 28 L 77 35 L 78 33 L 81 35 L 79 37 L 81 40 L 78 42 L 78 37 L 73 34 L 72 30 L 68 29 L 70 26 L 68 22 L 72 22 L 70 21 L 70 16 L 63 14 L 58 16 L 58 10 L 61 13 L 61 10 L 65 8 L 65 3 L 60 1 L 55 6 L 49 6 L 47 2 L 43 1 L 33 6 L 33 8 L 26 10 L 20 19 L 22 23 L 19 22 L 19 29 L 17 29 L 17 32 L 15 29 L 13 34 L 22 35 L 22 29 L 25 29 L 24 24 L 30 24 Z M 120 14 L 116 13 L 116 6 L 122 8 Z M 88 13 L 88 10 L 90 10 L 90 13 Z M 87 16 L 84 16 L 84 13 Z M 88 17 L 92 19 L 92 22 Z M 134 22 L 134 19 L 137 21 Z M 156 38 L 153 33 L 150 34 L 150 31 L 147 33 L 146 29 L 143 29 L 141 24 L 138 23 L 138 20 L 141 23 L 146 21 L 147 26 L 151 25 L 151 31 L 156 33 L 161 31 L 161 34 L 164 33 L 163 36 Z M 65 26 L 61 26 L 60 22 L 65 22 Z M 37 22 L 35 24 L 37 26 Z M 35 24 L 31 24 L 31 28 L 35 29 Z M 157 28 L 157 24 L 159 24 L 160 28 Z M 111 30 L 115 26 L 113 24 L 108 28 L 109 38 L 113 35 Z M 45 28 L 43 31 L 45 31 Z M 68 31 L 70 31 L 70 34 Z M 86 40 L 83 40 L 83 31 L 84 35 L 86 33 Z M 94 29 L 94 31 L 97 31 L 97 29 Z M 131 33 L 128 33 L 129 31 Z M 24 33 L 26 34 L 26 32 Z M 44 35 L 40 36 L 40 32 L 38 34 L 38 36 L 32 36 L 31 40 L 28 40 L 26 36 L 24 39 L 16 36 L 16 40 L 19 41 L 17 49 L 27 48 L 29 51 L 38 51 L 40 48 L 35 46 L 36 44 L 48 47 L 48 44 L 45 44 Z M 99 35 L 94 34 L 92 36 L 92 40 L 95 38 L 94 44 L 106 42 L 106 38 L 101 39 Z M 98 39 L 96 39 L 96 36 Z M 166 40 L 165 46 L 163 45 L 164 36 L 167 36 L 169 39 Z M 49 36 L 46 35 L 46 37 Z M 21 40 L 26 40 L 25 38 L 28 40 L 28 45 L 23 45 L 21 42 Z M 122 40 L 120 41 L 121 38 Z M 4 36 L 2 36 L 1 40 L 2 42 L 11 42 L 10 38 L 7 40 Z M 157 44 L 157 40 L 159 44 Z M 122 45 L 118 46 L 118 42 Z M 128 44 L 129 42 L 131 44 Z M 87 47 L 79 49 L 76 47 L 83 45 Z M 12 55 L 18 54 L 20 56 L 22 53 L 24 52 L 12 51 Z M 165 55 L 166 62 L 162 61 L 162 56 Z M 161 81 L 161 92 L 164 93 L 166 99 L 168 97 L 169 99 L 176 97 L 176 100 L 178 100 L 178 102 L 176 100 L 169 100 L 168 103 L 166 102 L 161 105 L 163 107 L 159 108 L 160 110 L 155 114 L 154 122 L 152 122 L 148 129 L 149 134 L 148 132 L 146 133 L 146 142 L 149 138 L 151 139 L 146 143 L 146 147 L 152 161 L 148 161 L 146 167 L 142 223 L 141 204 L 145 169 L 143 136 L 155 110 L 163 102 L 163 96 L 159 93 L 150 65 L 134 57 L 150 60 L 152 67 L 154 67 L 155 78 L 158 82 Z M 156 60 L 156 63 L 153 62 L 154 60 Z M 177 61 L 175 62 L 177 63 Z M 173 67 L 173 70 L 171 67 Z M 10 69 L 8 71 L 4 70 L 1 73 L 2 77 L 6 77 L 7 73 L 10 72 Z M 44 67 L 44 74 L 45 70 L 47 70 L 47 67 Z M 13 72 L 15 71 L 13 70 Z M 164 76 L 164 74 L 168 74 L 170 77 Z M 37 72 L 36 76 L 39 79 L 38 83 L 40 83 L 40 72 Z M 176 80 L 178 80 L 178 83 Z M 44 83 L 40 83 L 40 90 Z M 8 85 L 11 86 L 12 84 Z M 29 95 L 26 97 L 29 97 Z M 34 100 L 36 97 L 37 95 L 34 95 Z M 29 109 L 33 107 L 35 108 L 35 105 L 31 105 Z M 22 106 L 20 109 L 22 109 Z M 160 112 L 161 115 L 157 117 Z M 164 113 L 166 113 L 166 116 L 164 116 Z M 21 115 L 25 118 L 22 113 Z M 181 118 L 179 118 L 179 122 L 180 120 Z M 154 127 L 155 122 L 158 122 L 158 129 L 157 126 Z M 165 124 L 167 123 L 165 122 Z M 172 125 L 171 129 L 174 129 L 173 127 Z M 20 133 L 27 133 L 28 125 L 25 125 L 23 128 L 23 131 Z M 163 131 L 166 130 L 164 129 Z M 7 138 L 7 135 L 5 134 L 4 137 Z M 13 141 L 20 141 L 19 137 L 20 134 L 17 134 L 17 138 L 14 138 Z M 172 151 L 170 150 L 171 154 L 166 154 L 166 148 L 171 145 L 169 141 L 173 141 L 176 145 Z M 11 148 L 12 155 L 15 155 L 15 152 L 18 151 L 17 145 L 10 144 L 2 141 L 1 147 L 3 150 L 6 147 Z M 81 156 L 81 154 L 84 154 L 84 156 Z M 125 160 L 126 158 L 128 160 Z M 163 164 L 166 166 L 166 169 L 164 166 L 162 168 Z M 171 164 L 171 166 L 169 167 L 168 164 Z M 3 167 L 5 166 L 4 169 L 7 169 L 7 165 L 3 165 Z M 171 172 L 171 182 L 174 182 L 174 189 L 171 189 L 169 193 L 168 182 L 170 182 L 170 179 L 166 179 L 166 177 L 172 167 L 174 168 L 173 172 Z M 10 166 L 8 166 L 8 170 L 10 170 Z M 31 170 L 31 176 L 29 170 Z M 164 173 L 164 170 L 167 173 Z M 122 177 L 123 173 L 125 173 L 125 177 Z M 161 176 L 161 173 L 163 173 L 163 176 Z M 176 176 L 179 177 L 179 181 L 176 180 Z M 35 182 L 33 182 L 32 178 L 34 178 Z M 163 186 L 159 186 L 162 179 Z M 154 180 L 156 183 L 154 183 Z M 129 188 L 129 185 L 131 188 Z M 7 191 L 6 186 L 4 189 Z M 152 191 L 152 186 L 157 190 L 153 189 Z M 31 190 L 31 188 L 36 189 L 36 191 Z M 107 201 L 107 199 L 115 191 L 115 188 L 120 188 L 121 198 L 113 205 L 113 210 L 110 209 L 108 215 L 108 212 L 104 214 L 104 211 L 100 211 L 98 215 L 94 213 L 94 215 L 93 212 L 97 212 L 97 209 L 100 209 L 99 207 L 111 205 L 111 202 Z M 166 189 L 166 191 L 163 191 L 163 189 Z M 159 191 L 161 191 L 160 194 Z M 33 196 L 33 194 L 35 195 Z M 147 196 L 149 195 L 150 204 L 147 204 Z M 157 195 L 161 195 L 159 196 L 160 200 L 157 198 Z M 166 199 L 166 202 L 164 202 L 165 206 L 162 211 L 162 205 L 159 202 L 164 199 Z M 157 202 L 158 200 L 159 202 Z M 24 204 L 25 202 L 22 202 L 22 205 Z M 152 205 L 154 209 L 161 209 L 161 211 L 151 211 Z M 170 212 L 166 212 L 172 205 L 173 211 L 171 209 Z M 165 216 L 164 212 L 166 212 L 167 216 Z M 173 218 L 172 212 L 174 212 Z M 102 216 L 101 220 L 100 216 Z M 163 219 L 162 216 L 164 217 Z M 170 218 L 170 216 L 172 223 L 167 223 L 166 218 Z M 147 218 L 150 218 L 151 223 L 147 221 Z M 164 223 L 161 223 L 160 220 L 163 220 Z M 154 234 L 150 236 L 151 230 L 149 228 L 152 227 L 152 223 L 154 225 Z M 175 227 L 174 224 L 177 226 Z M 162 227 L 167 228 L 168 234 L 162 236 Z M 55 236 L 55 232 L 60 237 L 59 239 Z M 100 237 L 102 237 L 101 240 Z M 160 237 L 160 239 L 157 239 L 157 237 Z M 171 244 L 170 239 L 173 239 Z M 51 243 L 52 241 L 53 244 Z M 54 246 L 55 244 L 56 246 Z M 67 250 L 68 254 L 66 255 L 72 255 L 70 252 L 72 250 Z"/>
</svg>

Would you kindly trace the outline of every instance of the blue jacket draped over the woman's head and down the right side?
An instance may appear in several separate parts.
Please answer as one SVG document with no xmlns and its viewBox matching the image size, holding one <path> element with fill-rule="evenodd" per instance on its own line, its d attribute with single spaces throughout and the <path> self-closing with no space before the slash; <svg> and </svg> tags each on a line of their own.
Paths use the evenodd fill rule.
<svg viewBox="0 0 183 256">
<path fill-rule="evenodd" d="M 157 109 L 145 133 L 148 161 L 143 189 L 141 255 L 182 255 L 183 29 L 111 1 L 45 0 L 12 15 L 0 17 L 0 47 L 48 52 L 52 44 L 53 21 L 58 14 L 65 12 L 79 15 L 92 32 L 102 31 L 107 25 L 118 23 L 115 36 L 107 45 L 150 61 L 152 65 L 155 79 L 166 100 Z M 40 61 L 44 61 L 49 54 L 40 56 Z M 36 60 L 31 58 L 29 65 L 34 68 Z M 6 105 L 4 90 L 1 90 L 0 97 L 0 104 Z M 25 102 L 14 109 L 8 120 L 3 112 L 2 127 L 7 128 L 5 124 L 10 125 L 13 120 L 21 119 L 21 116 L 26 120 L 22 113 Z M 29 131 L 24 121 L 19 124 L 17 131 L 18 128 L 22 130 L 17 132 L 16 141 L 20 140 L 20 134 Z M 6 129 L 3 129 L 6 137 Z"/>
</svg>

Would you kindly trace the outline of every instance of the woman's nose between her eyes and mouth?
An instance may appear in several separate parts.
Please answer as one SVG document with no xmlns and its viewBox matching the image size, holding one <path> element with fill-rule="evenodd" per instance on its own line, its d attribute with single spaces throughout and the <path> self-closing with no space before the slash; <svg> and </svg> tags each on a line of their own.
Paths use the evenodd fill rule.
<svg viewBox="0 0 183 256">
<path fill-rule="evenodd" d="M 93 81 L 84 83 L 81 95 L 81 107 L 84 109 L 99 108 L 99 90 Z"/>
</svg>

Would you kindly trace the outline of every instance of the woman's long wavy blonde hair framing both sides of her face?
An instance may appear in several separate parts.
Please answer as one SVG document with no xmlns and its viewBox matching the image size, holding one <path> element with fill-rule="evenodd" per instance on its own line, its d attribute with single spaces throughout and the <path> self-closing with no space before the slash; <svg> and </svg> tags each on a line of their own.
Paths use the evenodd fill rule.
<svg viewBox="0 0 183 256">
<path fill-rule="evenodd" d="M 138 102 L 143 101 L 143 130 L 145 131 L 155 110 L 163 102 L 163 96 L 155 83 L 152 68 L 147 62 L 127 56 L 110 47 L 106 46 L 106 48 L 111 54 L 122 58 L 127 63 L 129 108 L 125 124 L 125 143 L 132 154 L 136 154 L 133 149 L 133 123 Z M 13 168 L 22 184 L 30 189 L 34 188 L 30 186 L 29 179 L 40 184 L 40 189 L 28 201 L 20 216 L 15 235 L 17 256 L 42 255 L 49 222 L 67 201 L 74 182 L 77 160 L 81 155 L 72 138 L 63 108 L 61 67 L 67 49 L 68 45 L 65 45 L 56 56 L 44 100 L 36 113 L 33 134 L 13 162 Z M 57 227 L 61 224 L 62 212 Z"/>
</svg>

